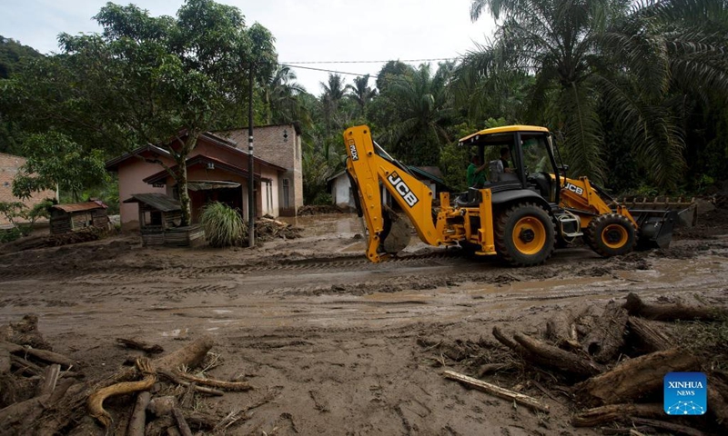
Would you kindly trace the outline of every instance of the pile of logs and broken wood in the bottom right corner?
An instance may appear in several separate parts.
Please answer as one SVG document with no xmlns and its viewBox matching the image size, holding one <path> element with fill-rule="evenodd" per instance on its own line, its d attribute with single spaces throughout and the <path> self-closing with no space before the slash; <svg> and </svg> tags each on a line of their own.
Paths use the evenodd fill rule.
<svg viewBox="0 0 728 436">
<path fill-rule="evenodd" d="M 531 370 L 549 374 L 554 381 L 571 384 L 571 388 L 565 391 L 554 391 L 552 385 L 550 390 L 538 384 L 538 377 L 529 377 L 526 381 L 521 379 L 507 390 L 459 372 L 446 371 L 444 376 L 516 401 L 535 411 L 549 411 L 549 405 L 539 400 L 539 394 L 555 401 L 555 393 L 565 393 L 577 407 L 586 408 L 573 415 L 571 423 L 575 427 L 623 422 L 688 435 L 712 434 L 718 429 L 728 429 L 728 383 L 722 381 L 723 372 L 705 357 L 713 353 L 713 347 L 705 342 L 703 349 L 696 349 L 694 344 L 688 349 L 687 344 L 675 341 L 672 333 L 673 329 L 684 326 L 652 320 L 725 322 L 725 316 L 724 310 L 714 307 L 678 302 L 648 303 L 630 293 L 622 304 L 609 302 L 601 316 L 593 316 L 591 311 L 581 312 L 576 317 L 568 312 L 555 314 L 547 322 L 542 340 L 519 332 L 510 335 L 498 327 L 493 328 L 493 337 L 521 358 L 521 373 Z M 438 366 L 446 366 L 446 358 L 460 362 L 454 358 L 456 356 L 442 352 L 442 341 L 434 345 L 424 341 L 419 343 L 428 351 L 440 350 Z M 468 352 L 470 356 L 477 354 L 477 351 Z M 470 371 L 485 377 L 510 368 L 512 364 L 501 358 L 501 362 L 472 364 Z M 711 420 L 659 421 L 665 416 L 664 406 L 654 401 L 662 398 L 663 377 L 668 372 L 708 374 L 711 380 L 708 386 Z M 497 373 L 490 377 L 503 380 Z M 536 397 L 524 393 L 525 386 L 537 387 Z M 619 433 L 608 431 L 605 434 Z"/>
</svg>

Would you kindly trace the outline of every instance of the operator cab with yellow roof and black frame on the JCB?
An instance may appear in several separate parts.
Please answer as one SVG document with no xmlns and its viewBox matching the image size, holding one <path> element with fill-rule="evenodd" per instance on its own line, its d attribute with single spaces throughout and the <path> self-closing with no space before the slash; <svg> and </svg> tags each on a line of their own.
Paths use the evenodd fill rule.
<svg viewBox="0 0 728 436">
<path fill-rule="evenodd" d="M 548 129 L 531 125 L 495 127 L 470 134 L 460 139 L 459 145 L 475 148 L 480 162 L 488 163 L 488 182 L 470 188 L 490 188 L 493 193 L 528 189 L 548 203 L 559 203 L 558 183 L 551 175 L 558 172 Z M 501 158 L 503 154 L 505 159 Z"/>
</svg>

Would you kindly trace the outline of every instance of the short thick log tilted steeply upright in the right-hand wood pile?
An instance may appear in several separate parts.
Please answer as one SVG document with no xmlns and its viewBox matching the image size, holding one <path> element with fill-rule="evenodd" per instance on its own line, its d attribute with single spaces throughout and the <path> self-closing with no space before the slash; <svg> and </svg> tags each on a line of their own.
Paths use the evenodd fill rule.
<svg viewBox="0 0 728 436">
<path fill-rule="evenodd" d="M 596 362 L 614 361 L 624 346 L 627 318 L 626 309 L 617 302 L 609 302 L 591 332 L 581 341 L 583 350 Z"/>
</svg>

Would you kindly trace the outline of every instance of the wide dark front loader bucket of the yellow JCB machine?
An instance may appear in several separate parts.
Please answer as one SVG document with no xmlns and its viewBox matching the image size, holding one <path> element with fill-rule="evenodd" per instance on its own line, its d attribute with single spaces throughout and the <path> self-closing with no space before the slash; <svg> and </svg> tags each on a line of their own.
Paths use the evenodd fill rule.
<svg viewBox="0 0 728 436">
<path fill-rule="evenodd" d="M 652 200 L 624 199 L 622 204 L 627 206 L 634 221 L 637 222 L 638 250 L 669 248 L 672 229 L 675 226 L 693 227 L 697 223 L 697 206 L 694 199 L 690 201 L 669 197 L 657 197 Z"/>
</svg>

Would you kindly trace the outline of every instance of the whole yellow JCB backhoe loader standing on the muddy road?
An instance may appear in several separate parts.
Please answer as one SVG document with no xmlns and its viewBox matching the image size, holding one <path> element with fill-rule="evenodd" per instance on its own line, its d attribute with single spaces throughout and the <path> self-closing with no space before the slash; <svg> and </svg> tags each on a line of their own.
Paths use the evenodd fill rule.
<svg viewBox="0 0 728 436">
<path fill-rule="evenodd" d="M 422 242 L 460 245 L 517 266 L 543 263 L 555 246 L 579 237 L 605 257 L 630 253 L 638 242 L 666 247 L 672 239 L 676 212 L 628 211 L 586 177 L 567 178 L 567 168 L 557 164 L 554 137 L 544 127 L 496 127 L 460 139 L 461 146 L 476 149 L 480 162 L 490 162 L 488 181 L 457 198 L 440 193 L 437 209 L 430 187 L 376 144 L 368 126 L 349 128 L 344 142 L 349 180 L 369 233 L 367 257 L 374 263 L 391 254 L 384 241 L 396 221 L 383 203 L 382 187 L 409 217 Z M 504 147 L 513 161 L 507 173 L 497 160 Z"/>
</svg>

